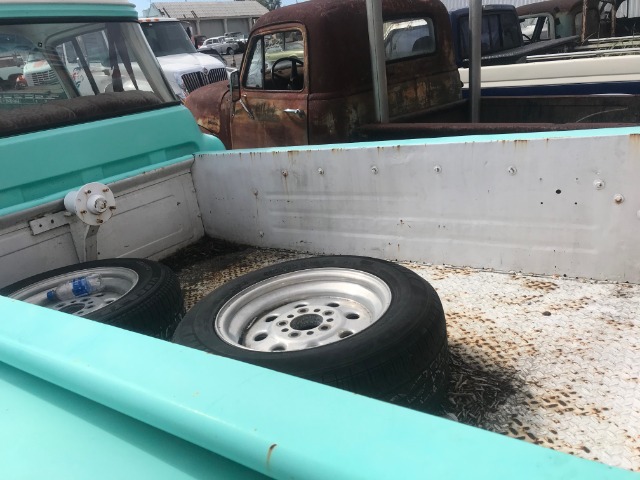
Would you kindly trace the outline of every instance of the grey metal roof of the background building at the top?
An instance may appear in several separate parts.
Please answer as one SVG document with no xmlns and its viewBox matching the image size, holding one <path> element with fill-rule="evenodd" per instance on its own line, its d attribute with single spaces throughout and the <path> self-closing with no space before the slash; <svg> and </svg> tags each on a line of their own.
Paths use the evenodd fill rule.
<svg viewBox="0 0 640 480">
<path fill-rule="evenodd" d="M 269 10 L 253 0 L 242 2 L 152 2 L 167 17 L 238 18 L 260 17 Z"/>
</svg>

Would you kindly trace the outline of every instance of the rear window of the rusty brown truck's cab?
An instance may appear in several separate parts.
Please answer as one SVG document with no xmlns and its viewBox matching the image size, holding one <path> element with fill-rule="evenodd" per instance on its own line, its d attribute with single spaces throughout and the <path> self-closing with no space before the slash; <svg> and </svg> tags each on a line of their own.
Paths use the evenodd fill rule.
<svg viewBox="0 0 640 480">
<path fill-rule="evenodd" d="M 436 51 L 433 21 L 430 18 L 384 22 L 383 39 L 387 61 L 416 57 Z"/>
</svg>

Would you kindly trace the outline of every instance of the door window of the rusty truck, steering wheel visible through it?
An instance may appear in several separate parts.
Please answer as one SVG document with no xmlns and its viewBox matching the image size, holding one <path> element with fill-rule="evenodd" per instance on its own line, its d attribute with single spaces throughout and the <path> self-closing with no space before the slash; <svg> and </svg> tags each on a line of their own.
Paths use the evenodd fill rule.
<svg viewBox="0 0 640 480">
<path fill-rule="evenodd" d="M 304 50 L 304 37 L 300 30 L 258 37 L 251 47 L 243 86 L 260 90 L 302 90 Z"/>
</svg>

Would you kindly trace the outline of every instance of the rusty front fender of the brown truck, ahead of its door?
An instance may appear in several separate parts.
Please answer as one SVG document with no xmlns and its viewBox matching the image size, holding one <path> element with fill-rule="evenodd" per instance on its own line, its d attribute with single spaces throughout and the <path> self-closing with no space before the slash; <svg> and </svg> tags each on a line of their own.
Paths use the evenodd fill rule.
<svg viewBox="0 0 640 480">
<path fill-rule="evenodd" d="M 227 149 L 231 148 L 231 98 L 227 80 L 198 88 L 187 96 L 184 104 L 200 130 L 215 135 Z"/>
</svg>

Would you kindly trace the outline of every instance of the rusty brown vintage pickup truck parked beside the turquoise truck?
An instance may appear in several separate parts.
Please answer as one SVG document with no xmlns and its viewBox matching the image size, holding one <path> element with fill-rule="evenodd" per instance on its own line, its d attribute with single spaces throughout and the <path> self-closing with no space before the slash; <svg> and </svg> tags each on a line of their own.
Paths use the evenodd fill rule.
<svg viewBox="0 0 640 480">
<path fill-rule="evenodd" d="M 388 121 L 376 117 L 380 89 L 362 0 L 316 0 L 265 14 L 231 83 L 208 85 L 186 105 L 203 131 L 234 149 L 570 130 L 640 119 L 635 96 L 501 97 L 481 99 L 479 122 L 471 124 L 444 5 L 387 0 L 381 9 Z"/>
</svg>

